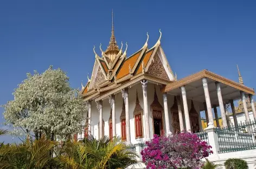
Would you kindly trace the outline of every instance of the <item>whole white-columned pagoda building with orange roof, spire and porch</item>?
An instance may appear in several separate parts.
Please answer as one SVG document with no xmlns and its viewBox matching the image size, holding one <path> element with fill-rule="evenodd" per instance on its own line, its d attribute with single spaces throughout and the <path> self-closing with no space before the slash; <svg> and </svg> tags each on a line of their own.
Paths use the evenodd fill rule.
<svg viewBox="0 0 256 169">
<path fill-rule="evenodd" d="M 249 98 L 256 115 L 254 90 L 244 83 L 209 70 L 177 79 L 161 47 L 161 38 L 159 30 L 158 41 L 149 47 L 147 34 L 142 47 L 127 56 L 127 43 L 125 49 L 123 43 L 119 48 L 114 36 L 112 12 L 109 45 L 104 51 L 100 44 L 101 56 L 93 48 L 92 75 L 91 78 L 87 76 L 88 82 L 81 90 L 88 104 L 87 125 L 85 132 L 80 134 L 81 138 L 88 134 L 97 139 L 104 135 L 110 138 L 120 136 L 127 144 L 137 144 L 152 139 L 154 134 L 200 132 L 200 112 L 206 113 L 207 127 L 214 128 L 216 107 L 220 107 L 221 126 L 227 127 L 225 104 L 234 105 L 233 101 L 239 99 L 245 114 L 248 114 L 246 100 Z M 234 106 L 232 111 L 235 115 Z"/>
</svg>

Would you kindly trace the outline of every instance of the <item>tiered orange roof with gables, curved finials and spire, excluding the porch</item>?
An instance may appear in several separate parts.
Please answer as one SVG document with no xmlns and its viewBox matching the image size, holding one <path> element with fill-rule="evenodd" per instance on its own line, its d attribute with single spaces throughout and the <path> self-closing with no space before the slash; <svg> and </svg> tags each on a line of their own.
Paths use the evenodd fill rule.
<svg viewBox="0 0 256 169">
<path fill-rule="evenodd" d="M 113 14 L 112 14 L 113 16 Z M 105 94 L 108 90 L 117 88 L 124 83 L 130 81 L 132 78 L 150 75 L 156 79 L 165 81 L 165 85 L 170 81 L 174 81 L 175 76 L 169 66 L 169 63 L 161 48 L 161 36 L 156 42 L 155 46 L 148 49 L 149 35 L 142 48 L 130 57 L 126 56 L 126 49 L 123 52 L 123 43 L 121 48 L 118 48 L 116 37 L 114 36 L 113 22 L 110 44 L 107 50 L 101 49 L 101 57 L 95 52 L 95 62 L 91 79 L 88 78 L 86 86 L 82 86 L 81 93 L 85 99 L 89 100 Z M 155 63 L 155 66 L 152 66 Z M 164 64 L 165 63 L 165 64 Z M 157 64 L 157 65 L 156 65 Z"/>
</svg>

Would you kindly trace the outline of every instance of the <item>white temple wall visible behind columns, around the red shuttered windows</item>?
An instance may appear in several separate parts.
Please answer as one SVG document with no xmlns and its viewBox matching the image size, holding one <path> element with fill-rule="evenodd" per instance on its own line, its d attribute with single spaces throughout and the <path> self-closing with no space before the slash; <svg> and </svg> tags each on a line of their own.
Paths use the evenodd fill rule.
<svg viewBox="0 0 256 169">
<path fill-rule="evenodd" d="M 159 103 L 163 105 L 163 94 L 161 93 L 160 86 L 153 85 L 152 83 L 148 83 L 148 111 L 149 111 L 149 127 L 150 127 L 150 138 L 153 139 L 153 119 L 152 119 L 152 112 L 150 109 L 150 105 L 153 102 L 154 98 L 154 93 L 156 87 L 156 93 L 158 97 Z M 143 139 L 135 139 L 135 121 L 133 119 L 133 111 L 136 106 L 136 91 L 138 91 L 138 99 L 140 106 L 142 109 L 144 109 L 144 103 L 143 103 L 143 91 L 142 91 L 142 85 L 138 83 L 137 85 L 132 86 L 129 88 L 129 114 L 130 114 L 130 133 L 131 133 L 131 142 L 132 144 L 137 144 L 139 142 L 143 142 Z M 173 132 L 172 129 L 172 116 L 171 116 L 171 107 L 174 104 L 174 96 L 173 95 L 167 95 L 168 96 L 168 111 L 169 111 L 169 122 L 170 122 L 170 131 Z M 194 106 L 196 111 L 199 113 L 199 104 L 200 102 L 193 101 Z M 182 103 L 182 98 L 181 98 L 181 103 Z M 117 135 L 121 135 L 121 124 L 120 124 L 120 115 L 122 111 L 122 106 L 123 106 L 123 98 L 121 96 L 121 93 L 116 94 L 116 131 Z M 183 103 L 181 105 L 183 109 Z M 105 122 L 105 127 L 104 127 L 104 134 L 109 135 L 109 127 L 108 127 L 108 119 L 110 118 L 110 103 L 108 102 L 108 99 L 103 100 L 103 120 Z M 191 100 L 188 100 L 188 109 L 190 111 L 191 109 Z M 99 123 L 99 112 L 96 107 L 95 101 L 92 101 L 92 135 L 94 138 L 98 139 L 98 123 Z M 183 123 L 185 127 L 185 119 L 184 119 L 184 111 L 183 111 Z M 144 121 L 144 114 L 143 114 L 143 121 L 142 121 L 142 126 L 143 126 L 143 134 L 145 135 L 145 121 Z M 165 131 L 165 120 L 164 120 L 164 112 L 163 112 L 163 127 Z M 165 131 L 166 132 L 166 131 Z M 83 136 L 83 135 L 82 135 Z"/>
</svg>

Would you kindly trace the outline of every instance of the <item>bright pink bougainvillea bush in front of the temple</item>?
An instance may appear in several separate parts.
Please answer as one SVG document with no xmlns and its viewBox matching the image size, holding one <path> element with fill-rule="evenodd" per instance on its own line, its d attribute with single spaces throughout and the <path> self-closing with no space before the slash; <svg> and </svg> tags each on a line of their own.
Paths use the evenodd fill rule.
<svg viewBox="0 0 256 169">
<path fill-rule="evenodd" d="M 201 159 L 208 157 L 211 146 L 196 134 L 180 133 L 173 137 L 158 137 L 146 142 L 141 152 L 146 168 L 200 168 Z"/>
</svg>

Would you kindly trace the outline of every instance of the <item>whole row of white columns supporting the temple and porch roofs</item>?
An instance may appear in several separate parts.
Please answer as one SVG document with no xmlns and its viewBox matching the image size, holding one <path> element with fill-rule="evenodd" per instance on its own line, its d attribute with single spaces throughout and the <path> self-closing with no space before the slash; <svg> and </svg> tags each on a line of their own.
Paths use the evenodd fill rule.
<svg viewBox="0 0 256 169">
<path fill-rule="evenodd" d="M 147 94 L 147 84 L 148 81 L 143 80 L 141 81 L 142 83 L 142 89 L 143 89 L 143 102 L 144 102 L 144 124 L 145 124 L 145 140 L 144 141 L 149 141 L 150 140 L 150 130 L 149 130 L 149 111 L 148 111 L 148 94 Z M 203 78 L 202 79 L 202 85 L 203 85 L 203 90 L 204 90 L 204 96 L 206 102 L 204 103 L 205 111 L 206 111 L 206 118 L 207 118 L 207 125 L 208 128 L 214 127 L 214 120 L 213 120 L 213 113 L 212 113 L 212 104 L 210 102 L 210 96 L 209 96 L 209 89 L 208 89 L 208 83 L 207 79 Z M 219 107 L 221 111 L 221 118 L 222 118 L 222 126 L 227 127 L 227 119 L 226 119 L 226 112 L 225 108 L 223 105 L 223 100 L 222 100 L 222 94 L 221 94 L 221 87 L 219 82 L 215 82 L 216 85 L 216 90 L 217 90 L 217 98 L 219 101 Z M 131 144 L 131 134 L 130 134 L 130 115 L 129 115 L 129 93 L 128 93 L 128 88 L 122 89 L 121 90 L 124 102 L 125 102 L 125 120 L 126 120 L 126 143 Z M 185 116 L 185 126 L 186 130 L 188 132 L 191 132 L 191 126 L 190 126 L 190 118 L 189 118 L 189 111 L 188 111 L 188 103 L 187 103 L 187 94 L 185 90 L 185 86 L 181 87 L 181 94 L 182 94 L 182 100 L 183 100 L 183 109 L 184 109 L 184 116 Z M 178 105 L 178 116 L 180 120 L 180 131 L 184 131 L 184 124 L 183 124 L 183 117 L 182 117 L 182 108 L 181 108 L 181 101 L 180 101 L 180 96 L 176 96 L 177 98 L 177 105 Z M 254 107 L 254 100 L 252 95 L 249 95 L 250 101 L 251 101 L 251 106 L 252 106 L 252 111 L 254 118 L 256 118 L 256 111 Z M 244 106 L 245 110 L 245 116 L 246 116 L 246 121 L 249 121 L 249 115 L 248 115 L 248 110 L 246 106 L 246 96 L 244 92 L 241 92 L 241 99 L 242 103 Z M 168 103 L 167 103 L 167 93 L 163 94 L 163 101 L 164 101 L 164 117 L 165 117 L 165 131 L 167 135 L 171 135 L 170 131 L 170 122 L 169 122 L 169 111 L 168 111 Z M 112 124 L 116 124 L 116 108 L 115 108 L 115 96 L 111 95 L 109 97 L 109 102 L 112 108 Z M 235 109 L 234 109 L 234 103 L 233 100 L 231 102 L 231 108 L 234 116 L 234 123 L 235 126 L 238 125 L 238 122 L 236 120 L 236 114 L 235 114 Z M 97 108 L 99 111 L 99 138 L 103 138 L 103 101 L 100 100 L 97 103 Z M 91 106 L 92 102 L 88 102 L 88 133 L 91 133 Z M 214 114 L 216 118 L 216 124 L 217 127 L 220 127 L 219 120 L 217 120 L 217 108 L 216 106 L 213 106 L 214 108 Z M 113 137 L 116 136 L 116 125 L 112 125 L 112 134 Z"/>
</svg>

